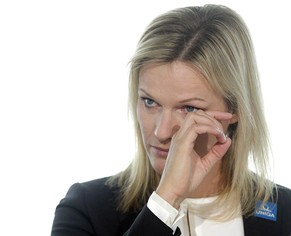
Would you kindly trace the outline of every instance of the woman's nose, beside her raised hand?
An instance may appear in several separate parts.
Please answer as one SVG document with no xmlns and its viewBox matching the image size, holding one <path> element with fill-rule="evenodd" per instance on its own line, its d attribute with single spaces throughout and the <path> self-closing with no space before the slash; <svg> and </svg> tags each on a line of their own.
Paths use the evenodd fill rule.
<svg viewBox="0 0 291 236">
<path fill-rule="evenodd" d="M 160 142 L 167 142 L 180 128 L 178 117 L 170 110 L 164 110 L 156 120 L 154 134 Z"/>
</svg>

